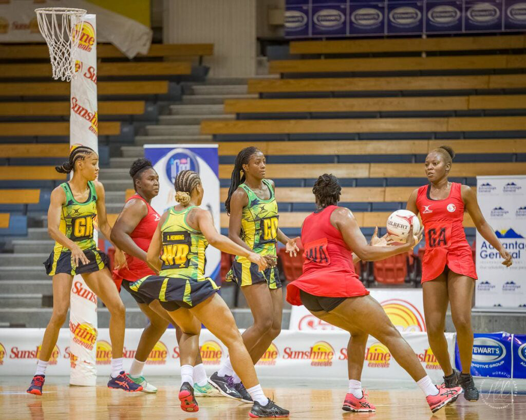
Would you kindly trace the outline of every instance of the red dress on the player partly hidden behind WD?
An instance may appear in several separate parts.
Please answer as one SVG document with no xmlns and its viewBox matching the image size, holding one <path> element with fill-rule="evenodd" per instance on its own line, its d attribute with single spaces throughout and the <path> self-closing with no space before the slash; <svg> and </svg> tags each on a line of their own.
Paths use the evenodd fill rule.
<svg viewBox="0 0 526 420">
<path fill-rule="evenodd" d="M 160 216 L 139 194 L 132 195 L 127 199 L 126 202 L 135 198 L 138 198 L 146 203 L 146 206 L 148 207 L 148 214 L 140 220 L 134 231 L 131 232 L 130 237 L 140 249 L 148 251 L 151 238 L 154 236 L 155 229 L 157 229 Z M 126 262 L 128 264 L 127 268 L 122 267 L 118 270 L 113 270 L 112 273 L 113 280 L 119 289 L 123 280 L 136 281 L 145 276 L 156 274 L 150 267 L 148 267 L 148 264 L 146 264 L 145 261 L 139 258 L 126 254 Z"/>
</svg>

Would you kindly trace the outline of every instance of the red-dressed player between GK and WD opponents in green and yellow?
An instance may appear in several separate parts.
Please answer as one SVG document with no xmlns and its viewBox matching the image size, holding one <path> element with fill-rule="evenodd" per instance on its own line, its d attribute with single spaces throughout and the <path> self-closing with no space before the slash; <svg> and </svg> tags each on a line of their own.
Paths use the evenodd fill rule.
<svg viewBox="0 0 526 420">
<path fill-rule="evenodd" d="M 143 366 L 172 321 L 159 301 L 139 296 L 129 285 L 138 279 L 156 274 L 146 263 L 146 253 L 160 220 L 159 214 L 150 206 L 151 199 L 159 193 L 159 176 L 147 159 L 135 160 L 130 168 L 130 176 L 133 178 L 136 193 L 127 199 L 111 235 L 114 243 L 126 253 L 116 255 L 113 279 L 118 288 L 122 285 L 130 293 L 140 310 L 148 317 L 149 324 L 140 337 L 129 376 L 143 386 L 143 392 L 155 393 L 157 388 L 148 383 L 142 375 Z M 179 341 L 181 330 L 177 325 L 175 328 Z M 220 396 L 207 382 L 208 377 L 200 353 L 194 366 L 194 376 L 196 396 Z"/>
</svg>

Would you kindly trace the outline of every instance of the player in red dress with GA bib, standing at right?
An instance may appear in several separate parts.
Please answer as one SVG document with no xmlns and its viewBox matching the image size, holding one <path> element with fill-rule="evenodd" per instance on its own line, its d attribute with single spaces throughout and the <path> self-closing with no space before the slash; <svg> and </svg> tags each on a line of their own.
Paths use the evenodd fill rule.
<svg viewBox="0 0 526 420">
<path fill-rule="evenodd" d="M 424 168 L 429 184 L 411 193 L 407 209 L 420 213 L 424 226 L 426 253 L 422 260 L 422 291 L 431 350 L 444 371 L 444 384 L 462 386 L 464 398 L 477 401 L 479 392 L 470 375 L 471 301 L 477 272 L 462 225 L 464 211 L 468 211 L 482 237 L 499 251 L 504 259 L 502 264 L 509 267 L 512 261 L 480 212 L 471 187 L 448 181 L 453 158 L 454 152 L 449 146 L 440 146 L 427 155 Z M 444 337 L 448 302 L 457 330 L 462 373 L 452 369 Z"/>
</svg>

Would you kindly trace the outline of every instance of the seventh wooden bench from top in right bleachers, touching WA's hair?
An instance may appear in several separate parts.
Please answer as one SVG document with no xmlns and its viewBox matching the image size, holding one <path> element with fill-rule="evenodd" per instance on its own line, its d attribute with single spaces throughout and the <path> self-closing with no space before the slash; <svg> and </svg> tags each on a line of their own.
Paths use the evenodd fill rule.
<svg viewBox="0 0 526 420">
<path fill-rule="evenodd" d="M 503 165 L 502 162 L 462 162 L 453 164 L 450 176 L 501 175 Z M 219 165 L 219 178 L 228 179 L 231 172 L 232 165 Z M 331 173 L 339 178 L 424 177 L 422 163 L 273 163 L 267 166 L 267 177 L 270 179 L 317 178 L 323 173 Z M 526 173 L 526 162 L 506 162 L 505 173 Z"/>
</svg>

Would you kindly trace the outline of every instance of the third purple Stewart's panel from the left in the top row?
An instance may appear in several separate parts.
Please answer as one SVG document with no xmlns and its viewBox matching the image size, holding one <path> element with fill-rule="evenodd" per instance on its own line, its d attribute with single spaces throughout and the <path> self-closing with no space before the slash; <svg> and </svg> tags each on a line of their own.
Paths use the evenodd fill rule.
<svg viewBox="0 0 526 420">
<path fill-rule="evenodd" d="M 349 35 L 384 35 L 386 3 L 349 3 Z"/>
</svg>

